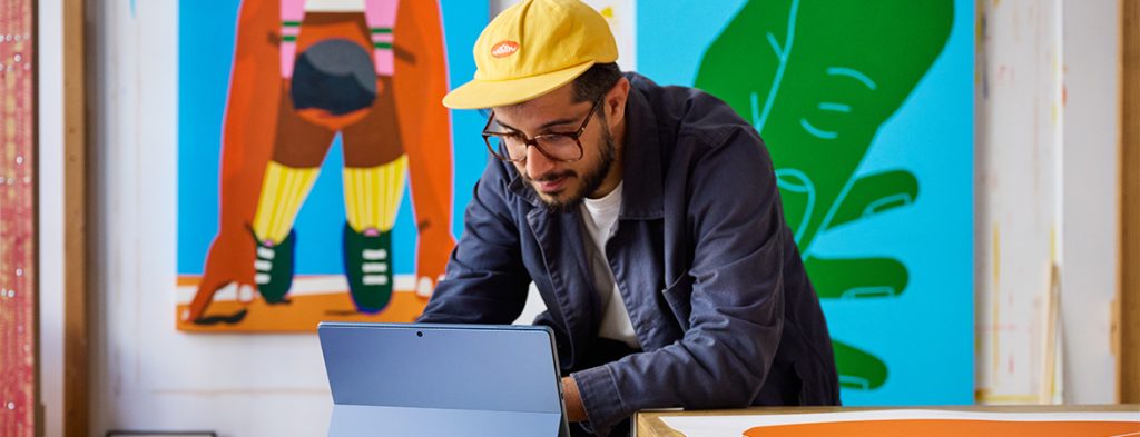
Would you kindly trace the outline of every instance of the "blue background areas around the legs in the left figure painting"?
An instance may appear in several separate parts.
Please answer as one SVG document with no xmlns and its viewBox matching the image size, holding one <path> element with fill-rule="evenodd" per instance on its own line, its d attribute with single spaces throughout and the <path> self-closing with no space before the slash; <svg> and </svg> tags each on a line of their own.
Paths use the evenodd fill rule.
<svg viewBox="0 0 1140 437">
<path fill-rule="evenodd" d="M 218 183 L 221 129 L 234 57 L 235 23 L 241 0 L 182 0 L 179 5 L 179 147 L 178 274 L 202 274 L 206 250 L 218 233 Z M 451 88 L 475 72 L 471 47 L 487 25 L 486 1 L 441 0 Z M 276 108 L 269 108 L 276 110 Z M 482 173 L 487 148 L 479 132 L 483 118 L 474 110 L 453 110 L 453 233 L 463 230 L 463 209 Z M 340 138 L 334 141 L 296 217 L 298 274 L 343 274 L 341 229 L 344 225 Z M 405 191 L 392 230 L 393 252 L 415 254 L 412 197 Z M 414 256 L 397 256 L 396 274 L 410 274 Z"/>
</svg>

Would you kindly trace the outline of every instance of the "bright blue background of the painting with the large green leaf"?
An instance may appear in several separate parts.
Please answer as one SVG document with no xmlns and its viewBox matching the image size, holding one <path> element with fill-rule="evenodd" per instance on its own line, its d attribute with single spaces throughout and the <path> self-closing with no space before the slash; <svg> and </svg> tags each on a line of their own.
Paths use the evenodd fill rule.
<svg viewBox="0 0 1140 437">
<path fill-rule="evenodd" d="M 661 84 L 692 85 L 705 50 L 743 3 L 640 2 L 638 69 Z M 921 187 L 918 201 L 813 245 L 824 257 L 890 256 L 910 271 L 898 297 L 823 300 L 832 337 L 889 369 L 878 389 L 844 389 L 846 405 L 974 402 L 974 7 L 955 0 L 945 49 L 856 172 L 907 170 Z"/>
</svg>

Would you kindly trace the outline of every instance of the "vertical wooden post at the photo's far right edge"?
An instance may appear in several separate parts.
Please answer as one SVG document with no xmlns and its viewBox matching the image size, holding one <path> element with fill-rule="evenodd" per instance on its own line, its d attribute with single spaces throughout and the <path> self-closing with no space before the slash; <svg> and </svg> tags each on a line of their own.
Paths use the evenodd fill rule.
<svg viewBox="0 0 1140 437">
<path fill-rule="evenodd" d="M 1140 403 L 1140 0 L 1121 0 L 1119 401 Z"/>
</svg>

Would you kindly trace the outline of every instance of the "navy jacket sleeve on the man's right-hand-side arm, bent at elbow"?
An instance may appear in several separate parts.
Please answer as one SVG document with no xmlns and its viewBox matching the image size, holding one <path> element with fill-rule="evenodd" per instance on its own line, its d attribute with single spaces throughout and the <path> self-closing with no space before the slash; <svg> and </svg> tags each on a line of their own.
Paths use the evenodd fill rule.
<svg viewBox="0 0 1140 437">
<path fill-rule="evenodd" d="M 771 369 L 783 327 L 782 255 L 793 242 L 783 240 L 775 175 L 759 135 L 717 132 L 719 139 L 698 140 L 719 146 L 689 174 L 690 328 L 669 346 L 573 373 L 600 436 L 637 410 L 747 406 Z"/>
</svg>

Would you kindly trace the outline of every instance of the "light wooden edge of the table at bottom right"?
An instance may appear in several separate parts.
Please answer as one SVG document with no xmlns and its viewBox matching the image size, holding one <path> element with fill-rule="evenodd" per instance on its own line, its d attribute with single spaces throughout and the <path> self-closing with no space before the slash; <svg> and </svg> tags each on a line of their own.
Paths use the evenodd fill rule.
<svg viewBox="0 0 1140 437">
<path fill-rule="evenodd" d="M 940 410 L 984 413 L 1048 413 L 1048 412 L 1140 412 L 1140 404 L 1114 405 L 956 405 L 956 406 L 772 406 L 740 410 L 657 410 L 640 411 L 634 414 L 637 437 L 685 437 L 661 420 L 662 417 L 684 415 L 743 415 L 743 414 L 798 414 L 839 413 L 877 410 Z"/>
</svg>

